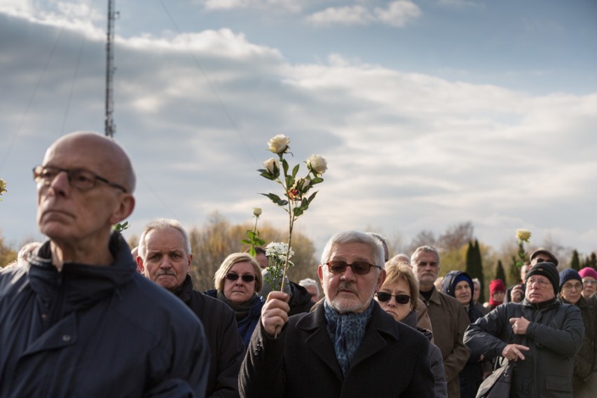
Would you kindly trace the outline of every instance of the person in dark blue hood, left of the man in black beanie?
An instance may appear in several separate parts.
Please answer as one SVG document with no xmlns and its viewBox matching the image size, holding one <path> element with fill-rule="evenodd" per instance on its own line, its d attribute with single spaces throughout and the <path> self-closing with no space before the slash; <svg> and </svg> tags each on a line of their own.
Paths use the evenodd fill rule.
<svg viewBox="0 0 597 398">
<path fill-rule="evenodd" d="M 501 282 L 501 281 L 500 281 Z M 471 323 L 483 317 L 481 310 L 474 305 L 474 283 L 469 274 L 462 271 L 450 271 L 444 276 L 441 292 L 454 297 L 465 307 Z M 483 353 L 471 350 L 471 355 L 464 369 L 458 374 L 460 380 L 460 397 L 474 398 L 483 381 Z"/>
</svg>

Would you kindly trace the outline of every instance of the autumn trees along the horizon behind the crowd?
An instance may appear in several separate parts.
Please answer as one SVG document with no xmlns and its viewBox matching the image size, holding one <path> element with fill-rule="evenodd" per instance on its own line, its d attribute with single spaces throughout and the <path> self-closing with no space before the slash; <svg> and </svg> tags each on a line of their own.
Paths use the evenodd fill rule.
<svg viewBox="0 0 597 398">
<path fill-rule="evenodd" d="M 245 238 L 245 232 L 253 227 L 252 224 L 231 224 L 221 214 L 214 212 L 207 219 L 205 225 L 194 227 L 189 232 L 193 263 L 191 276 L 195 288 L 201 291 L 213 288 L 213 278 L 216 270 L 228 254 L 244 252 L 248 247 L 240 241 Z M 375 228 L 365 228 L 371 232 Z M 286 228 L 275 228 L 267 223 L 259 224 L 261 238 L 266 242 L 284 242 L 287 240 Z M 383 235 L 383 231 L 382 231 Z M 483 293 L 488 293 L 489 281 L 500 278 L 507 286 L 519 280 L 520 270 L 516 266 L 518 245 L 512 231 L 512 239 L 494 249 L 483 245 L 474 236 L 474 226 L 471 222 L 462 222 L 448 226 L 446 231 L 439 236 L 432 231 L 420 231 L 410 242 L 405 243 L 401 235 L 387 235 L 390 254 L 411 253 L 421 245 L 436 247 L 440 253 L 440 276 L 451 270 L 466 270 L 472 277 L 479 277 L 483 284 Z M 506 237 L 507 238 L 507 237 Z M 131 236 L 129 245 L 135 247 L 139 236 Z M 25 243 L 25 242 L 22 242 Z M 324 242 L 317 242 L 322 247 Z M 586 266 L 597 269 L 597 256 L 593 252 L 587 256 L 581 255 L 575 249 L 563 247 L 556 240 L 547 238 L 541 245 L 526 247 L 527 255 L 537 247 L 544 247 L 554 253 L 560 260 L 560 268 L 580 269 Z M 292 235 L 292 248 L 294 249 L 295 266 L 289 270 L 291 280 L 299 281 L 305 277 L 317 279 L 317 264 L 321 253 L 315 252 L 315 244 L 308 236 L 295 231 Z M 6 245 L 0 233 L 0 266 L 17 258 L 18 248 Z M 483 299 L 483 297 L 481 298 Z"/>
</svg>

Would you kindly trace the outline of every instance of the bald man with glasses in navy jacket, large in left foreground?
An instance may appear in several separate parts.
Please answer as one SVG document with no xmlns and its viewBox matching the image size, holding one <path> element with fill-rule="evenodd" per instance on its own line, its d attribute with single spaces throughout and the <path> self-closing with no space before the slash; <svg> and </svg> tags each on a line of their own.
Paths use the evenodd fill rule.
<svg viewBox="0 0 597 398">
<path fill-rule="evenodd" d="M 76 132 L 33 172 L 49 240 L 0 271 L 0 397 L 203 397 L 200 321 L 137 273 L 112 229 L 135 207 L 123 149 Z"/>
</svg>

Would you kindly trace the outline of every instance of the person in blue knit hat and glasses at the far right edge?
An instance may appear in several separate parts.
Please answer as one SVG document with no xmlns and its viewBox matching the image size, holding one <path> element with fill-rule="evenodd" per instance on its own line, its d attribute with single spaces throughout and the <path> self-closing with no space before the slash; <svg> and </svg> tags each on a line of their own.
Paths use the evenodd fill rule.
<svg viewBox="0 0 597 398">
<path fill-rule="evenodd" d="M 583 289 L 582 277 L 572 268 L 566 268 L 560 273 L 560 293 L 558 301 L 572 304 L 580 309 L 582 323 L 584 323 L 584 339 L 574 359 L 572 372 L 572 389 L 575 397 L 594 397 L 594 387 L 597 376 L 593 373 L 596 365 L 597 338 L 596 322 L 597 308 L 593 308 L 581 294 Z"/>
</svg>

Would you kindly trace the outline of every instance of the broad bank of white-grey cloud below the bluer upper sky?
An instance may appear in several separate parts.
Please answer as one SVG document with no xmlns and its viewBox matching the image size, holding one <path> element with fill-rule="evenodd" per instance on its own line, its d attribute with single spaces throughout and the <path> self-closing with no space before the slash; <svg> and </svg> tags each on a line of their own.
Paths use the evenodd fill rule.
<svg viewBox="0 0 597 398">
<path fill-rule="evenodd" d="M 103 128 L 103 37 L 86 46 L 92 56 L 82 58 L 64 111 L 78 32 L 65 30 L 0 170 L 10 187 L 1 205 L 11 239 L 36 231 L 30 170 L 48 144 L 69 130 Z M 0 24 L 0 35 L 9 34 L 0 127 L 12 137 L 55 29 Z M 248 221 L 253 206 L 282 224 L 283 212 L 258 195 L 275 186 L 255 170 L 270 157 L 268 138 L 284 133 L 294 163 L 311 153 L 328 160 L 320 193 L 297 224 L 316 245 L 341 229 L 373 225 L 408 237 L 471 220 L 488 244 L 533 226 L 537 236 L 558 231 L 566 245 L 594 249 L 597 93 L 530 95 L 340 53 L 294 64 L 226 28 L 121 37 L 116 64 L 116 139 L 141 177 L 130 233 L 160 216 L 202 224 L 213 210 Z"/>
</svg>

